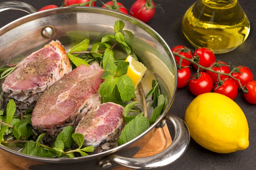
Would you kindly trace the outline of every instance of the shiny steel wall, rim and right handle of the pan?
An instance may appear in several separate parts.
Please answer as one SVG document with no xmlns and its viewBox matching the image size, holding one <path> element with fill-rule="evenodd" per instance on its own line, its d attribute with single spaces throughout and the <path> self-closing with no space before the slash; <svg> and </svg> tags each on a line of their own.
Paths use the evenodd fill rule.
<svg viewBox="0 0 256 170">
<path fill-rule="evenodd" d="M 0 4 L 0 9 L 2 8 L 4 8 L 3 4 Z M 141 168 L 155 168 L 172 163 L 185 152 L 189 145 L 189 133 L 186 125 L 181 119 L 173 115 L 166 115 L 177 90 L 175 59 L 166 42 L 153 29 L 139 20 L 123 13 L 97 7 L 62 7 L 31 13 L 0 29 L 0 65 L 5 64 L 7 60 L 9 62 L 18 60 L 18 58 L 22 60 L 51 40 L 60 40 L 66 50 L 85 38 L 89 38 L 90 43 L 93 44 L 101 40 L 104 35 L 113 33 L 116 20 L 124 21 L 124 36 L 127 43 L 138 55 L 139 60 L 157 78 L 162 93 L 167 97 L 168 103 L 159 119 L 132 141 L 88 157 L 73 159 L 32 157 L 0 145 L 1 155 L 24 170 L 56 170 L 57 168 L 62 170 L 81 168 L 102 170 L 102 166 L 111 169 L 119 164 L 136 167 L 133 164 L 137 163 L 134 162 L 140 162 Z M 48 27 L 52 29 L 52 35 L 43 36 L 42 32 Z M 122 52 L 123 50 L 116 49 L 116 51 L 119 53 L 119 56 L 116 57 L 126 56 Z M 146 145 L 156 128 L 162 127 L 164 124 L 162 121 L 165 119 L 171 121 L 176 131 L 175 140 L 168 150 L 160 155 L 146 158 L 149 160 L 146 161 L 147 165 L 142 163 L 144 161 L 142 159 L 128 159 Z M 171 153 L 167 154 L 167 152 Z M 127 159 L 125 159 L 126 157 Z"/>
</svg>

